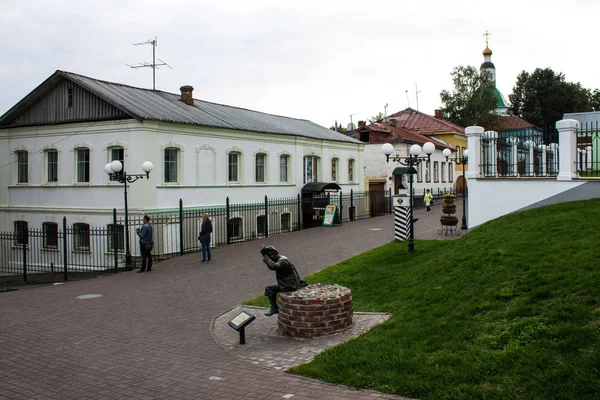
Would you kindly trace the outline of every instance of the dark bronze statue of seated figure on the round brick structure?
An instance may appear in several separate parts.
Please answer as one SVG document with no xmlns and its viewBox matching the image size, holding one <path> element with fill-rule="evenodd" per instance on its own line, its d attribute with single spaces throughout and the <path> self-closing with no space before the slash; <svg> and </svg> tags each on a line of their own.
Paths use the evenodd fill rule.
<svg viewBox="0 0 600 400">
<path fill-rule="evenodd" d="M 271 271 L 275 271 L 277 285 L 267 286 L 265 288 L 265 296 L 271 302 L 271 309 L 265 315 L 270 317 L 277 314 L 277 293 L 293 292 L 294 290 L 308 286 L 308 282 L 300 279 L 300 275 L 294 267 L 294 264 L 288 260 L 286 256 L 282 256 L 273 246 L 263 246 L 260 250 L 263 256 L 263 262 Z"/>
</svg>

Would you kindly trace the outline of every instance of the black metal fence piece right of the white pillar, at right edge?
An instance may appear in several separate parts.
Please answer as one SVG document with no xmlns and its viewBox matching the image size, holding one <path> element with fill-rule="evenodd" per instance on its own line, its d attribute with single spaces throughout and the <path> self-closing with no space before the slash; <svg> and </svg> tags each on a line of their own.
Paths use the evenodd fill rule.
<svg viewBox="0 0 600 400">
<path fill-rule="evenodd" d="M 600 124 L 582 124 L 577 129 L 577 172 L 582 178 L 600 177 Z"/>
</svg>

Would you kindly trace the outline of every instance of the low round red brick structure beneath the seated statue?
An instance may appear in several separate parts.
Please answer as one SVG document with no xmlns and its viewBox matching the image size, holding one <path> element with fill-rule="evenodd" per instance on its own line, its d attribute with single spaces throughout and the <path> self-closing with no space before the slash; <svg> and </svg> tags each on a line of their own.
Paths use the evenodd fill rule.
<svg viewBox="0 0 600 400">
<path fill-rule="evenodd" d="M 280 335 L 297 338 L 329 335 L 352 326 L 352 291 L 339 285 L 308 285 L 279 293 Z"/>
</svg>

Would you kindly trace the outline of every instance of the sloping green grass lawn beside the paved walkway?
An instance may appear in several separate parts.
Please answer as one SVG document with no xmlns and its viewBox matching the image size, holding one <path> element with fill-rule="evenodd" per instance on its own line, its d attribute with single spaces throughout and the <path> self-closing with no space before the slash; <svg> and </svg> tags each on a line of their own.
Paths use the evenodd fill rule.
<svg viewBox="0 0 600 400">
<path fill-rule="evenodd" d="M 420 399 L 600 398 L 594 215 L 600 200 L 519 212 L 307 277 L 351 288 L 356 311 L 392 318 L 290 372 Z"/>
</svg>

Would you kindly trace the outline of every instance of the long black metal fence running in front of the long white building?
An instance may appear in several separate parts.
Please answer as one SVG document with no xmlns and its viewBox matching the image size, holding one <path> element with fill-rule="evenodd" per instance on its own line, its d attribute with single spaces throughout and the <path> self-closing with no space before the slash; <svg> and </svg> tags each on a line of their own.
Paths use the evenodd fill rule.
<svg viewBox="0 0 600 400">
<path fill-rule="evenodd" d="M 201 250 L 198 241 L 202 215 L 213 221 L 213 247 L 235 242 L 266 239 L 320 225 L 327 204 L 340 210 L 340 222 L 370 218 L 391 213 L 389 191 L 328 193 L 319 201 L 265 196 L 258 203 L 230 203 L 223 206 L 184 207 L 172 213 L 149 213 L 153 227 L 153 257 L 159 261 Z M 0 276 L 36 278 L 56 281 L 84 273 L 117 272 L 125 267 L 127 242 L 134 264 L 139 263 L 140 249 L 135 228 L 142 217 L 129 217 L 129 229 L 123 218 L 113 212 L 111 223 L 90 227 L 82 223 L 68 224 L 63 218 L 58 224 L 44 224 L 42 229 L 15 227 L 14 232 L 0 232 Z M 129 232 L 126 237 L 126 232 Z M 127 240 L 128 239 L 128 240 Z M 36 280 L 36 279 L 33 279 Z"/>
</svg>

